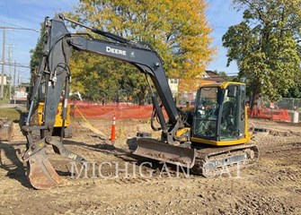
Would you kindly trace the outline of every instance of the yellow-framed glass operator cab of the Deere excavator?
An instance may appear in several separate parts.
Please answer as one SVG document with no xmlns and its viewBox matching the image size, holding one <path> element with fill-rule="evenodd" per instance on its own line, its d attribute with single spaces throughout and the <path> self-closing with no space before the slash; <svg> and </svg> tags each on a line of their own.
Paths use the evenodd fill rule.
<svg viewBox="0 0 301 215">
<path fill-rule="evenodd" d="M 248 133 L 245 85 L 237 82 L 202 84 L 193 117 L 192 142 L 213 145 L 245 143 Z"/>
</svg>

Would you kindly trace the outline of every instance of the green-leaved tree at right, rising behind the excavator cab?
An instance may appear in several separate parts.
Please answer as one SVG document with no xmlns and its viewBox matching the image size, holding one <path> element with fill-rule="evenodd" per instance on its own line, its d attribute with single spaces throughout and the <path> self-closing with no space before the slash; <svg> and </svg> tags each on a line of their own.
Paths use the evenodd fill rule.
<svg viewBox="0 0 301 215">
<path fill-rule="evenodd" d="M 235 0 L 244 9 L 243 22 L 223 36 L 227 65 L 236 61 L 239 77 L 245 77 L 252 100 L 260 94 L 270 100 L 296 85 L 300 73 L 301 1 Z"/>
</svg>

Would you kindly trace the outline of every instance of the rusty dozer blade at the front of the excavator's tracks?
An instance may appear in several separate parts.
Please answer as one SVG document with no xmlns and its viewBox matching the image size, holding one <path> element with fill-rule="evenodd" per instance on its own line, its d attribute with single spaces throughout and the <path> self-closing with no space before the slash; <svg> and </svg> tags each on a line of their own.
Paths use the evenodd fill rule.
<svg viewBox="0 0 301 215">
<path fill-rule="evenodd" d="M 139 138 L 137 149 L 133 151 L 133 154 L 184 168 L 192 168 L 197 152 L 190 148 L 158 142 L 151 138 Z"/>
</svg>

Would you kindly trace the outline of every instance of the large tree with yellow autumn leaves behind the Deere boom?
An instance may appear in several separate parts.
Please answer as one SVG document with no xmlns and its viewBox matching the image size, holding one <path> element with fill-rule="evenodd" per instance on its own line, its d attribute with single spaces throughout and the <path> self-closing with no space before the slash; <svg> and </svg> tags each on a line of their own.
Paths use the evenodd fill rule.
<svg viewBox="0 0 301 215">
<path fill-rule="evenodd" d="M 191 79 L 205 70 L 214 53 L 209 47 L 211 29 L 204 14 L 206 7 L 205 2 L 199 0 L 81 0 L 75 13 L 67 15 L 86 25 L 154 47 L 164 59 L 168 76 Z M 143 103 L 147 94 L 143 75 L 128 64 L 115 61 L 111 64 L 114 67 L 110 73 L 114 73 L 114 78 L 120 78 L 115 84 L 135 89 L 139 103 Z M 108 79 L 112 82 L 111 78 L 107 76 L 102 82 Z"/>
</svg>

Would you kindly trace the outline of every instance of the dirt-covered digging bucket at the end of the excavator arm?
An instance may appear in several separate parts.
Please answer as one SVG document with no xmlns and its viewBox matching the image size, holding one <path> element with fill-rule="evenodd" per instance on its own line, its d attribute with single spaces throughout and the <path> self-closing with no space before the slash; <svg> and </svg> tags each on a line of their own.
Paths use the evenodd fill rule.
<svg viewBox="0 0 301 215">
<path fill-rule="evenodd" d="M 49 162 L 46 148 L 31 155 L 27 162 L 27 176 L 36 189 L 49 189 L 62 185 L 64 180 L 58 176 Z"/>
</svg>

